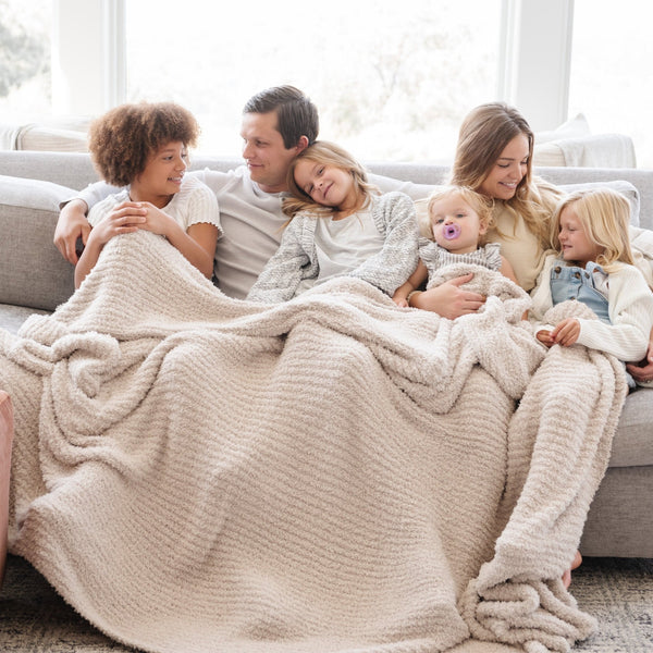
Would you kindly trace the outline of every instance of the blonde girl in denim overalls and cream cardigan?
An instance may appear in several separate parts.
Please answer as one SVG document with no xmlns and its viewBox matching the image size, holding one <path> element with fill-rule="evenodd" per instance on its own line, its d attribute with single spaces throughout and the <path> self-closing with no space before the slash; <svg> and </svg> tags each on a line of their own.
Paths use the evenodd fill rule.
<svg viewBox="0 0 653 653">
<path fill-rule="evenodd" d="M 531 293 L 535 336 L 545 346 L 576 343 L 626 362 L 646 355 L 653 326 L 653 293 L 634 267 L 628 200 L 609 188 L 581 190 L 557 207 L 552 222 L 556 254 L 546 258 Z M 541 324 L 546 310 L 582 301 L 599 318 L 566 318 Z M 631 387 L 634 386 L 629 379 Z"/>
</svg>

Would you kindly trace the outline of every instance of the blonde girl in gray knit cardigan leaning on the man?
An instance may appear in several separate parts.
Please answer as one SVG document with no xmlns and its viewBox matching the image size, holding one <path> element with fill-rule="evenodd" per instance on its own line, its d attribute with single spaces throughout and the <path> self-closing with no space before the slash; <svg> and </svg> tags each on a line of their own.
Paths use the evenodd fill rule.
<svg viewBox="0 0 653 653">
<path fill-rule="evenodd" d="M 288 170 L 289 220 L 276 252 L 247 298 L 286 301 L 336 276 L 355 276 L 389 296 L 414 271 L 418 225 L 405 194 L 381 195 L 347 151 L 316 141 Z"/>
</svg>

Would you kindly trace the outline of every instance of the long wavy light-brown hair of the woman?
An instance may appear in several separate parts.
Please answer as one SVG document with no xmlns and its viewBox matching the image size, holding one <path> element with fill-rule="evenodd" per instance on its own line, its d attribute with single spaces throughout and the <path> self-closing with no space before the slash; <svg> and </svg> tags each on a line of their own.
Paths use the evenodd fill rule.
<svg viewBox="0 0 653 653">
<path fill-rule="evenodd" d="M 550 224 L 559 192 L 532 175 L 533 132 L 521 113 L 505 102 L 488 102 L 473 109 L 460 125 L 451 183 L 479 190 L 506 146 L 519 135 L 528 140 L 526 174 L 515 195 L 502 201 L 514 214 L 521 217 L 542 247 L 550 247 Z"/>
</svg>

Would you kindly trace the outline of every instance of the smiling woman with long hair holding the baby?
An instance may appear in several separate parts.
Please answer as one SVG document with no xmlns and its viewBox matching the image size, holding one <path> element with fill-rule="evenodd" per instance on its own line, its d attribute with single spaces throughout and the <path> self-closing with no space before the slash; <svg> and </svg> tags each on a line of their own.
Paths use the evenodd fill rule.
<svg viewBox="0 0 653 653">
<path fill-rule="evenodd" d="M 488 241 L 500 243 L 519 285 L 530 291 L 550 248 L 551 217 L 560 193 L 532 177 L 533 133 L 516 109 L 490 102 L 463 122 L 451 183 L 494 201 Z M 477 311 L 484 297 L 460 286 L 470 275 L 411 296 L 410 306 L 454 319 Z"/>
</svg>

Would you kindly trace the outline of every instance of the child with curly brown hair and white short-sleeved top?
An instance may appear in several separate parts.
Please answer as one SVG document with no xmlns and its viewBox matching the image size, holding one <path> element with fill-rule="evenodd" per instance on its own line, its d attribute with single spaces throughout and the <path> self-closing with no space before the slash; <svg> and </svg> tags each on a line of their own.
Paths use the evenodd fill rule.
<svg viewBox="0 0 653 653">
<path fill-rule="evenodd" d="M 193 114 L 172 102 L 122 104 L 93 123 L 89 150 L 96 169 L 107 183 L 125 187 L 88 214 L 93 230 L 75 267 L 76 287 L 111 238 L 139 229 L 165 237 L 212 276 L 222 235 L 218 201 L 201 182 L 184 176 L 198 135 Z"/>
</svg>

